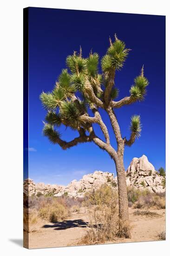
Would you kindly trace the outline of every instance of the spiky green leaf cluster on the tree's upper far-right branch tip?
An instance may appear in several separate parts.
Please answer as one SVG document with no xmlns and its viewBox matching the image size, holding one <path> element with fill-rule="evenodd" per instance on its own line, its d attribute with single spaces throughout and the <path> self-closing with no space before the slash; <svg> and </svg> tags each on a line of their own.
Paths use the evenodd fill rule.
<svg viewBox="0 0 170 256">
<path fill-rule="evenodd" d="M 146 87 L 149 82 L 144 76 L 137 76 L 134 80 L 134 85 L 131 86 L 130 94 L 137 100 L 143 100 L 146 94 Z"/>
</svg>

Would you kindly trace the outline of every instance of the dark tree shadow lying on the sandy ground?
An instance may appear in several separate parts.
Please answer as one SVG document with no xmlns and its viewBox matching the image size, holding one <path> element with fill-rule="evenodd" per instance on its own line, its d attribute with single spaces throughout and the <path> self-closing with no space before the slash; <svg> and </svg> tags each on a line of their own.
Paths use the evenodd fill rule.
<svg viewBox="0 0 170 256">
<path fill-rule="evenodd" d="M 63 230 L 70 228 L 86 228 L 88 226 L 88 222 L 84 222 L 83 220 L 67 220 L 63 222 L 55 222 L 53 225 L 44 225 L 43 228 L 55 228 L 55 230 Z"/>
</svg>

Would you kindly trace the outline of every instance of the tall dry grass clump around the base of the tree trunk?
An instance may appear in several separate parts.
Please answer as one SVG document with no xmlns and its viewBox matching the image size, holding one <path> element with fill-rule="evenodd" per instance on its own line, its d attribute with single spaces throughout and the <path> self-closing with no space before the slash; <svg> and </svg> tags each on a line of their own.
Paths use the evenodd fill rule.
<svg viewBox="0 0 170 256">
<path fill-rule="evenodd" d="M 86 235 L 79 244 L 98 244 L 126 237 L 130 226 L 118 219 L 118 193 L 107 185 L 85 195 L 86 206 L 90 206 Z"/>
</svg>

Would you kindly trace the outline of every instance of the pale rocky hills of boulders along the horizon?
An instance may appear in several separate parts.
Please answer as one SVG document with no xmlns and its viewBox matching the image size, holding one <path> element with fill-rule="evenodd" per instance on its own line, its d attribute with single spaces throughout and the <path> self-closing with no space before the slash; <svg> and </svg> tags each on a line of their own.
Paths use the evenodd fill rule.
<svg viewBox="0 0 170 256">
<path fill-rule="evenodd" d="M 134 186 L 136 189 L 148 189 L 150 192 L 162 193 L 164 188 L 164 177 L 160 176 L 154 166 L 143 155 L 140 158 L 134 157 L 126 171 L 127 186 Z M 35 184 L 33 180 L 24 181 L 24 193 L 26 195 L 53 194 L 54 196 L 68 195 L 84 197 L 85 192 L 98 189 L 102 184 L 108 184 L 111 189 L 118 189 L 117 177 L 112 173 L 95 171 L 87 174 L 79 181 L 73 180 L 67 186 L 45 183 Z"/>
</svg>

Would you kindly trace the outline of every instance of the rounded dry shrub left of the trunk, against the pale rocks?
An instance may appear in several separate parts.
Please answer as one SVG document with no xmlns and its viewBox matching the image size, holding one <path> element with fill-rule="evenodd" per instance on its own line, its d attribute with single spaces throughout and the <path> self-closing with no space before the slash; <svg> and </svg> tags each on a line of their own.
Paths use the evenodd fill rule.
<svg viewBox="0 0 170 256">
<path fill-rule="evenodd" d="M 118 198 L 117 192 L 110 186 L 104 184 L 93 192 L 85 193 L 85 206 L 89 205 L 110 205 L 116 202 Z"/>
</svg>

